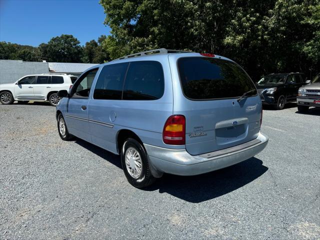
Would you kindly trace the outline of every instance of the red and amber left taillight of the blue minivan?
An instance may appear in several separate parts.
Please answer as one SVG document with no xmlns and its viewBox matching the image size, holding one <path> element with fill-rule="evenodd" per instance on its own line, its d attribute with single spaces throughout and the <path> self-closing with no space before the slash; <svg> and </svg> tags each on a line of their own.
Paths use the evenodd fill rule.
<svg viewBox="0 0 320 240">
<path fill-rule="evenodd" d="M 169 116 L 163 127 L 162 139 L 166 144 L 185 144 L 185 117 L 183 115 Z"/>
</svg>

